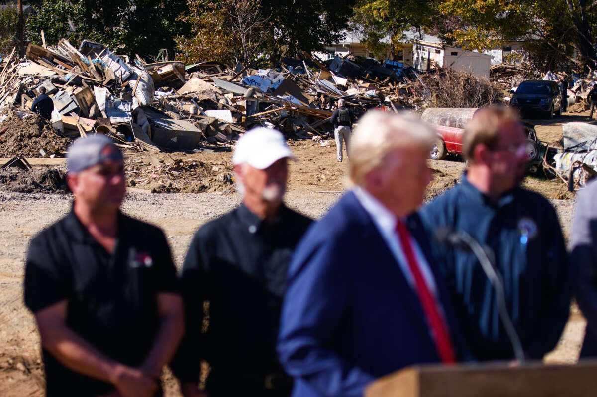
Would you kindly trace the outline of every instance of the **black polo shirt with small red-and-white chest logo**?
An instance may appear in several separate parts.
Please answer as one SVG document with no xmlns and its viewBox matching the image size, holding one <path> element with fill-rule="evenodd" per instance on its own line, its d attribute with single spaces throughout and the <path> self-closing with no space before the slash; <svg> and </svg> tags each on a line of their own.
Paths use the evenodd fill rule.
<svg viewBox="0 0 597 397">
<path fill-rule="evenodd" d="M 159 325 L 156 294 L 177 292 L 164 233 L 122 213 L 114 255 L 71 212 L 29 245 L 25 304 L 32 312 L 68 301 L 67 325 L 107 356 L 137 366 Z M 42 349 L 47 396 L 96 396 L 112 385 L 75 373 Z"/>
</svg>

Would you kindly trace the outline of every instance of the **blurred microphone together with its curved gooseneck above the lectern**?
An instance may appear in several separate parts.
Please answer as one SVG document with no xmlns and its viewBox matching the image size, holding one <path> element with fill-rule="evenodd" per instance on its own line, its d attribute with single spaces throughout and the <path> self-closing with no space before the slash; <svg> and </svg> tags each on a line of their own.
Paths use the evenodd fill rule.
<svg viewBox="0 0 597 397">
<path fill-rule="evenodd" d="M 453 247 L 464 252 L 472 252 L 477 260 L 479 260 L 479 264 L 481 264 L 485 277 L 488 278 L 496 293 L 501 322 L 503 323 L 508 339 L 510 339 L 510 343 L 512 344 L 514 356 L 521 362 L 521 364 L 524 364 L 524 351 L 522 350 L 521 340 L 518 337 L 518 333 L 516 333 L 512 318 L 508 313 L 506 294 L 504 293 L 504 283 L 501 280 L 501 275 L 496 271 L 494 265 L 496 260 L 493 250 L 487 246 L 482 247 L 481 244 L 479 244 L 479 241 L 475 240 L 475 238 L 466 231 L 460 229 L 455 230 L 450 227 L 438 228 L 435 231 L 435 240 L 447 247 Z"/>
</svg>

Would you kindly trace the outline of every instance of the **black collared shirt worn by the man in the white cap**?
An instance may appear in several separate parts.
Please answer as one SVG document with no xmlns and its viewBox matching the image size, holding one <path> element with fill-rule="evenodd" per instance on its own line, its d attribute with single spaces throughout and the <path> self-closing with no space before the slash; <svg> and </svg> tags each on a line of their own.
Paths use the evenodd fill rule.
<svg viewBox="0 0 597 397">
<path fill-rule="evenodd" d="M 288 264 L 311 222 L 282 206 L 268 223 L 241 204 L 196 232 L 182 273 L 187 337 L 173 362 L 182 380 L 198 379 L 202 359 L 211 366 L 207 389 L 218 395 L 257 393 L 264 376 L 282 373 L 275 342 Z"/>
</svg>

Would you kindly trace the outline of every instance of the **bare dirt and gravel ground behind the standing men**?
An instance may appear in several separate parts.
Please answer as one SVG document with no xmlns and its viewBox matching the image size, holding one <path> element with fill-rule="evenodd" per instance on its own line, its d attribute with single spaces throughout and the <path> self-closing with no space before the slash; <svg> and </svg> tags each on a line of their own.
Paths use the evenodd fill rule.
<svg viewBox="0 0 597 397">
<path fill-rule="evenodd" d="M 567 113 L 559 119 L 530 121 L 538 124 L 541 140 L 558 146 L 562 123 L 581 120 L 586 114 Z M 297 160 L 290 163 L 287 203 L 318 218 L 347 187 L 347 162 L 336 161 L 336 148 L 331 140 L 324 146 L 310 140 L 289 144 Z M 155 153 L 152 156 L 147 152 L 127 152 L 126 172 L 133 193 L 128 194 L 123 210 L 163 228 L 175 262 L 180 266 L 196 228 L 239 202 L 232 180 L 232 153 Z M 458 157 L 431 161 L 430 166 L 435 179 L 429 186 L 427 199 L 456 183 L 464 169 Z M 562 193 L 562 182 L 527 178 L 525 186 L 552 200 L 567 234 L 574 201 L 572 196 Z M 66 213 L 70 200 L 70 195 L 64 193 L 13 193 L 0 183 L 0 396 L 43 395 L 39 336 L 32 315 L 23 305 L 23 265 L 30 238 Z M 545 361 L 576 362 L 584 325 L 582 315 L 573 305 L 562 339 L 555 351 L 546 355 Z M 164 377 L 164 387 L 168 397 L 180 396 L 176 380 L 170 375 Z"/>
</svg>

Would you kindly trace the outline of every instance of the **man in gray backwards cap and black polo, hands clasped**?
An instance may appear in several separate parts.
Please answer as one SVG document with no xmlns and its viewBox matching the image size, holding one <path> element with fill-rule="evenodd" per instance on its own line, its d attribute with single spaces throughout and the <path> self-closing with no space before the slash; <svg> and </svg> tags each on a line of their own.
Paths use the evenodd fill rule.
<svg viewBox="0 0 597 397">
<path fill-rule="evenodd" d="M 67 152 L 72 210 L 27 252 L 24 299 L 35 315 L 46 395 L 149 397 L 183 334 L 164 233 L 122 214 L 121 151 L 105 135 Z"/>
</svg>

